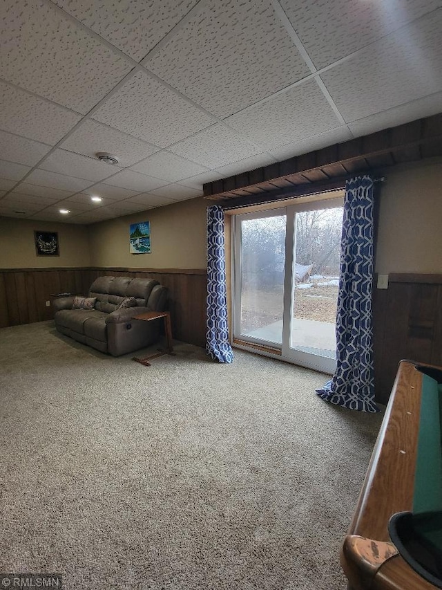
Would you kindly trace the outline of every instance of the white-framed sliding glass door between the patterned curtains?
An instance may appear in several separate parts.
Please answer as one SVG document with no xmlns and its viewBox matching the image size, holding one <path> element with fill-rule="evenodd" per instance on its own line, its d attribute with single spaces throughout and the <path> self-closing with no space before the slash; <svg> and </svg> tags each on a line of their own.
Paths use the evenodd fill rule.
<svg viewBox="0 0 442 590">
<path fill-rule="evenodd" d="M 334 371 L 342 217 L 342 199 L 235 216 L 236 340 Z"/>
</svg>

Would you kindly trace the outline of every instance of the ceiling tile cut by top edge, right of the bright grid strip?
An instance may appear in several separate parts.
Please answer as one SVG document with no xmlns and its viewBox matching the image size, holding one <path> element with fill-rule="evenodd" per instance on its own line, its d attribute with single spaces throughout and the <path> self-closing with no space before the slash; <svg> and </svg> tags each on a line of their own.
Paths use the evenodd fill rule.
<svg viewBox="0 0 442 590">
<path fill-rule="evenodd" d="M 280 0 L 317 68 L 357 51 L 441 6 L 440 0 Z"/>
</svg>

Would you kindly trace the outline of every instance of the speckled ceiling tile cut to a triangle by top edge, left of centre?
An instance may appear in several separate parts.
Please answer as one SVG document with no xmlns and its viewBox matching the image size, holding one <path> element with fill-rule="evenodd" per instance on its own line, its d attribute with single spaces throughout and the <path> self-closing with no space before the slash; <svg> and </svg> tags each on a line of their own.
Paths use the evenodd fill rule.
<svg viewBox="0 0 442 590">
<path fill-rule="evenodd" d="M 53 1 L 139 62 L 198 0 Z"/>
</svg>

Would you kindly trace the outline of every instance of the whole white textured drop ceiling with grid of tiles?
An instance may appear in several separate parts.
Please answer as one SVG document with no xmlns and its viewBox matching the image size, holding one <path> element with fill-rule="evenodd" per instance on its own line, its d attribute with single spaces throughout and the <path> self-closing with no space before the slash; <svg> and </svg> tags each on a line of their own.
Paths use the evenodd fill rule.
<svg viewBox="0 0 442 590">
<path fill-rule="evenodd" d="M 3 0 L 0 215 L 95 223 L 439 113 L 441 30 L 442 0 Z"/>
</svg>

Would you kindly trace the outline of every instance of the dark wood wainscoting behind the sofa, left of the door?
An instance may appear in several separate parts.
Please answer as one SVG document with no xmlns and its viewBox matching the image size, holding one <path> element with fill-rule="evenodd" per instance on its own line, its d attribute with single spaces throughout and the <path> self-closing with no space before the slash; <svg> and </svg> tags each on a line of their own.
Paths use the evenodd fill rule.
<svg viewBox="0 0 442 590">
<path fill-rule="evenodd" d="M 173 338 L 204 347 L 206 269 L 11 268 L 0 269 L 0 327 L 52 319 L 51 293 L 88 293 L 102 275 L 149 277 L 169 288 Z"/>
</svg>

